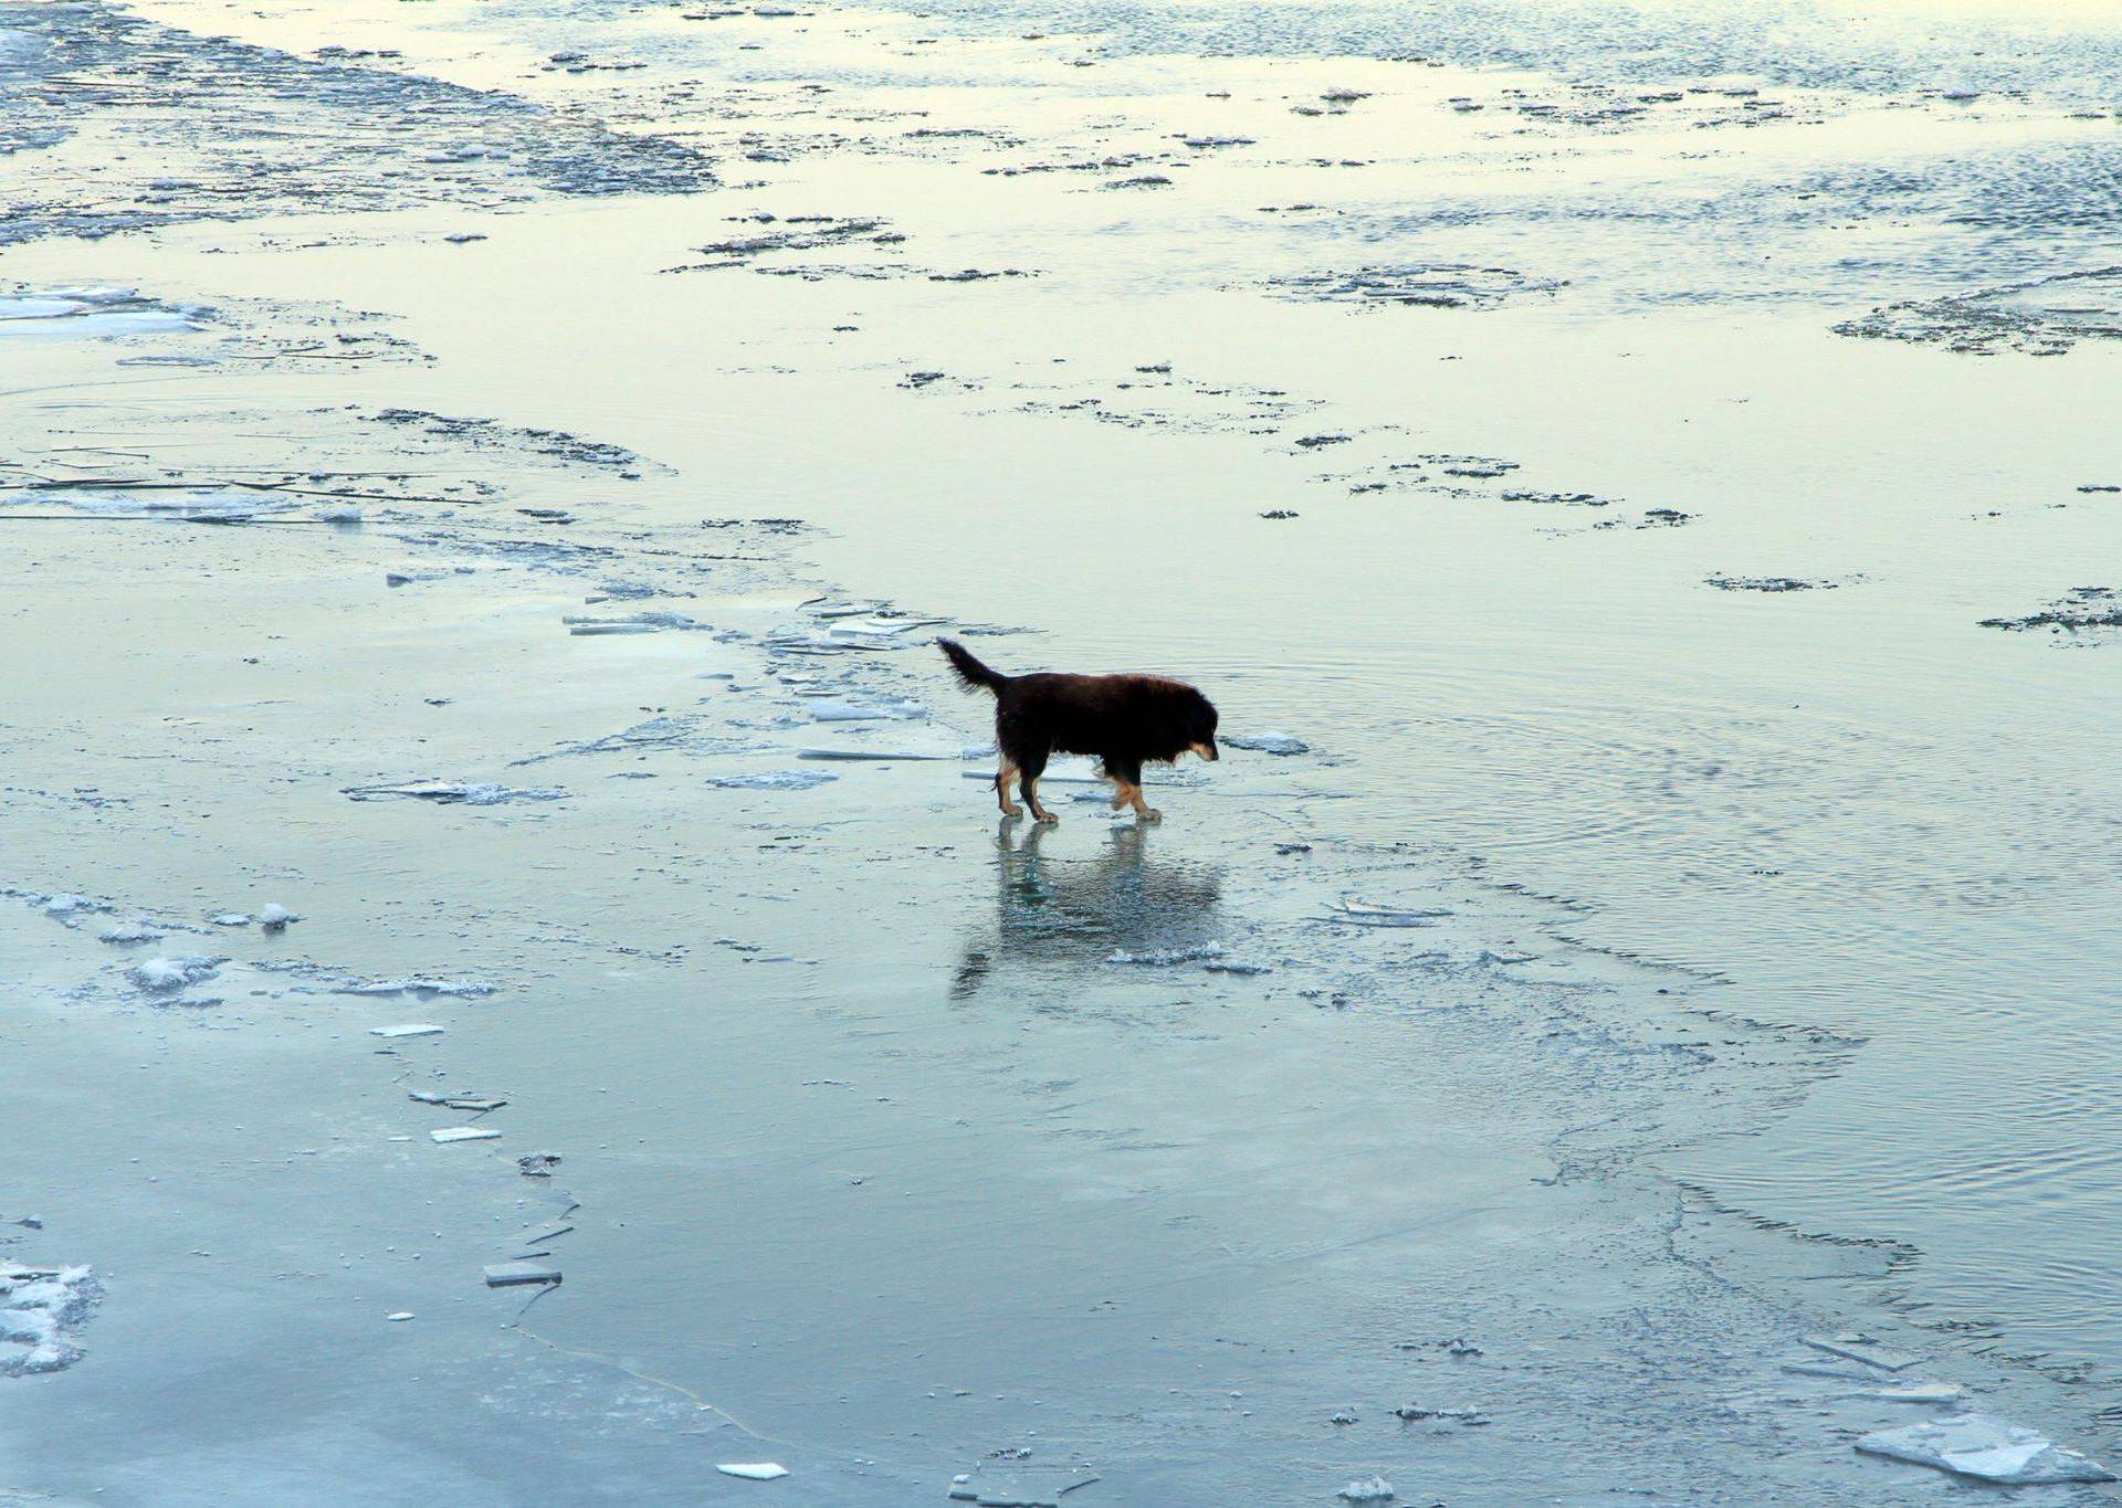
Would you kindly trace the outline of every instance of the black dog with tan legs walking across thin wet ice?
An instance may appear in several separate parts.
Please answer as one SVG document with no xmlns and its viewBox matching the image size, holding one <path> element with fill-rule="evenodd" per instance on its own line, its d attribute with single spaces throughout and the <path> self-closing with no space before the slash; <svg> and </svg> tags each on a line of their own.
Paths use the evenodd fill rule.
<svg viewBox="0 0 2122 1508">
<path fill-rule="evenodd" d="M 968 689 L 995 694 L 995 744 L 1002 768 L 995 795 L 1008 817 L 1023 817 L 1010 781 L 1023 783 L 1025 806 L 1042 823 L 1061 821 L 1040 806 L 1040 774 L 1050 753 L 1097 755 L 1112 781 L 1112 810 L 1133 806 L 1156 821 L 1142 800 L 1142 766 L 1171 764 L 1182 753 L 1216 759 L 1216 708 L 1184 681 L 1154 674 L 1002 674 L 972 657 L 955 638 L 938 638 Z"/>
</svg>

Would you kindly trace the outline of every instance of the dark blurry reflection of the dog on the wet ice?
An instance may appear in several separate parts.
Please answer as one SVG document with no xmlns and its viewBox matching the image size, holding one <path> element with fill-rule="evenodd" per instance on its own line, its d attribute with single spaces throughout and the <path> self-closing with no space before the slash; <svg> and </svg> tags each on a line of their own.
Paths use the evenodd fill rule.
<svg viewBox="0 0 2122 1508">
<path fill-rule="evenodd" d="M 1197 948 L 1220 931 L 1222 874 L 1150 857 L 1154 827 L 1118 823 L 1084 857 L 1040 851 L 1053 827 L 995 831 L 995 923 L 966 940 L 951 999 L 1006 963 L 1097 965 L 1114 950 Z M 1055 840 L 1065 842 L 1065 840 Z"/>
</svg>

